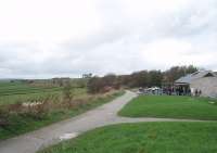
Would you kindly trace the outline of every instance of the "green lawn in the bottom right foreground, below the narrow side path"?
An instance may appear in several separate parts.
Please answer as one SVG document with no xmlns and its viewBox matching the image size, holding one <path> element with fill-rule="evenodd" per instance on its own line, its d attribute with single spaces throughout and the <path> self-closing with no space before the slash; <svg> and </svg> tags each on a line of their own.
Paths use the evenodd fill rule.
<svg viewBox="0 0 217 153">
<path fill-rule="evenodd" d="M 120 124 L 88 131 L 38 153 L 214 153 L 216 123 Z"/>
</svg>

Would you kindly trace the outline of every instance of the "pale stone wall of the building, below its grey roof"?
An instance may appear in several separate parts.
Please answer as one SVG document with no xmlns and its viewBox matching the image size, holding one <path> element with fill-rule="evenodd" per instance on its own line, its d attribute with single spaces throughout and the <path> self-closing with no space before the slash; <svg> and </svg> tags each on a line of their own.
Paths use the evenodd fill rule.
<svg viewBox="0 0 217 153">
<path fill-rule="evenodd" d="M 190 88 L 194 88 L 194 90 L 201 90 L 203 97 L 217 98 L 217 77 L 204 77 L 195 79 L 190 84 Z"/>
</svg>

